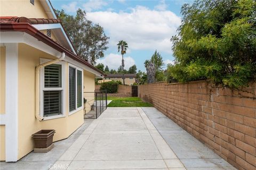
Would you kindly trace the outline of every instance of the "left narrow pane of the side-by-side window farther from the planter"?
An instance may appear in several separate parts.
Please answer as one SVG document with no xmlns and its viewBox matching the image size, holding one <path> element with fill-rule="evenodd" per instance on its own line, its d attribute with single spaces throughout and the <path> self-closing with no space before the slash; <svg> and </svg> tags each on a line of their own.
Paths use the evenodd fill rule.
<svg viewBox="0 0 256 170">
<path fill-rule="evenodd" d="M 76 109 L 76 69 L 69 67 L 69 112 Z"/>
</svg>

